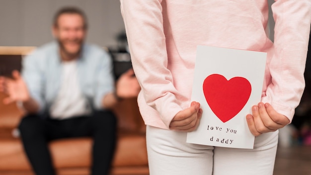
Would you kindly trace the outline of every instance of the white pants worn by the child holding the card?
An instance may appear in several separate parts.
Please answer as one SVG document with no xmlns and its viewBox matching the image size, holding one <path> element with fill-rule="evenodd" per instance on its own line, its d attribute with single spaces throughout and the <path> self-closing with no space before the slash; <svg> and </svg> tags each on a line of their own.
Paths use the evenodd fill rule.
<svg viewBox="0 0 311 175">
<path fill-rule="evenodd" d="M 278 131 L 255 137 L 254 149 L 186 143 L 186 132 L 147 126 L 150 175 L 272 175 Z"/>
</svg>

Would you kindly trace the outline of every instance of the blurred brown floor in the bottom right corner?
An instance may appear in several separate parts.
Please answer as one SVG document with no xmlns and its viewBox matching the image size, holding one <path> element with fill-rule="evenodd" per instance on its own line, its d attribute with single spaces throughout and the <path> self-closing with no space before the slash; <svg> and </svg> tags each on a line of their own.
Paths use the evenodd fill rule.
<svg viewBox="0 0 311 175">
<path fill-rule="evenodd" d="M 311 146 L 279 147 L 273 175 L 311 175 Z"/>
</svg>

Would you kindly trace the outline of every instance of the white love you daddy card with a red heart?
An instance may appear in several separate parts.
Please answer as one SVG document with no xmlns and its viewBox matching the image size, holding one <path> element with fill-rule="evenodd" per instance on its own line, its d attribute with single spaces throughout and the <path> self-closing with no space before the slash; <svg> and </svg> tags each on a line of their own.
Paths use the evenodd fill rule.
<svg viewBox="0 0 311 175">
<path fill-rule="evenodd" d="M 191 99 L 200 102 L 203 115 L 187 143 L 253 148 L 246 115 L 260 102 L 265 64 L 265 52 L 197 47 Z"/>
</svg>

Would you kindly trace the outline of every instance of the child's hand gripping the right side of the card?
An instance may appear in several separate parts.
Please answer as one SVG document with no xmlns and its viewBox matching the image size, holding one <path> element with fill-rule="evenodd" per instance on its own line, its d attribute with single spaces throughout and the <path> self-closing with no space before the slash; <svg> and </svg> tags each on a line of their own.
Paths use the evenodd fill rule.
<svg viewBox="0 0 311 175">
<path fill-rule="evenodd" d="M 252 115 L 246 115 L 246 121 L 254 136 L 276 131 L 290 123 L 286 116 L 275 111 L 269 103 L 262 102 L 252 106 Z"/>
</svg>

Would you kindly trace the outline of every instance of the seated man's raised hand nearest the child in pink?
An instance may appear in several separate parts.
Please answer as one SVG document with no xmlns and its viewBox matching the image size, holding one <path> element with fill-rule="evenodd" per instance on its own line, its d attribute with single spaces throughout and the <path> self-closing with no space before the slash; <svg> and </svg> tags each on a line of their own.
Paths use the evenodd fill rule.
<svg viewBox="0 0 311 175">
<path fill-rule="evenodd" d="M 123 73 L 116 84 L 116 94 L 120 98 L 136 97 L 140 90 L 133 69 Z"/>
</svg>

